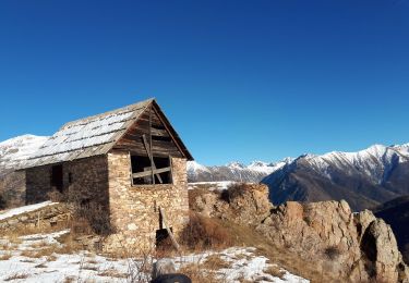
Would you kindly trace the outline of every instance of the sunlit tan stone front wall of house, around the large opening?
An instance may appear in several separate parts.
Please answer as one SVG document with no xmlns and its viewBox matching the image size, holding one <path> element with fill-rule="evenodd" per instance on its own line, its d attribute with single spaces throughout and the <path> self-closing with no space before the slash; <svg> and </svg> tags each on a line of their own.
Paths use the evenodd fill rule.
<svg viewBox="0 0 409 283">
<path fill-rule="evenodd" d="M 159 207 L 165 210 L 167 224 L 179 236 L 189 221 L 187 162 L 172 158 L 171 163 L 172 184 L 133 186 L 129 153 L 108 153 L 111 223 L 117 233 L 106 241 L 107 251 L 154 248 L 156 231 L 163 229 Z"/>
</svg>

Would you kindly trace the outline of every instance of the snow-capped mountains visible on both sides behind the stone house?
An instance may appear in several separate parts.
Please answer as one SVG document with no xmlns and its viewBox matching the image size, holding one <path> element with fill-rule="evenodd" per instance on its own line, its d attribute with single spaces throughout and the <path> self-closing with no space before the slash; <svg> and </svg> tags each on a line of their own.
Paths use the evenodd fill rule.
<svg viewBox="0 0 409 283">
<path fill-rule="evenodd" d="M 24 135 L 0 143 L 0 176 L 17 168 L 47 139 Z M 346 199 L 353 210 L 374 208 L 409 195 L 409 144 L 371 146 L 358 152 L 303 155 L 279 162 L 231 162 L 205 167 L 188 163 L 189 182 L 251 182 L 269 187 L 275 205 L 287 200 Z"/>
</svg>

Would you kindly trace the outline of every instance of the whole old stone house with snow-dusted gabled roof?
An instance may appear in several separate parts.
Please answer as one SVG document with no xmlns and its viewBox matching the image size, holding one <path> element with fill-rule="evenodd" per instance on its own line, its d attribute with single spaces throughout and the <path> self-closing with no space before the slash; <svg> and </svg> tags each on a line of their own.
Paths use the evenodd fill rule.
<svg viewBox="0 0 409 283">
<path fill-rule="evenodd" d="M 23 168 L 25 202 L 59 192 L 86 208 L 98 205 L 112 227 L 106 250 L 152 248 L 169 230 L 178 237 L 189 221 L 188 160 L 148 99 L 63 125 Z"/>
</svg>

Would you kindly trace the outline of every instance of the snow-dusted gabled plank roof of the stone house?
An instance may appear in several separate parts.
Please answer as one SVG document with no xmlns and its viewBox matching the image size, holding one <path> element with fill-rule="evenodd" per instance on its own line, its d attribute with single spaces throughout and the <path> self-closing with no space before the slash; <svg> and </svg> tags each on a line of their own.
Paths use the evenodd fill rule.
<svg viewBox="0 0 409 283">
<path fill-rule="evenodd" d="M 155 99 L 147 99 L 103 114 L 88 116 L 64 124 L 35 152 L 21 169 L 72 161 L 106 155 L 151 106 L 155 107 L 183 156 L 192 156 L 183 145 Z"/>
</svg>

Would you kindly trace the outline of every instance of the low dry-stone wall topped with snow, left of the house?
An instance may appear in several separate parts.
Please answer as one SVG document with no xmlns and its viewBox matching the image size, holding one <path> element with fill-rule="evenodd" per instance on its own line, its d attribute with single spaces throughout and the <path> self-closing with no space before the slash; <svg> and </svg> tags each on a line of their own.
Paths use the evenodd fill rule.
<svg viewBox="0 0 409 283">
<path fill-rule="evenodd" d="M 71 210 L 64 204 L 50 204 L 36 210 L 0 220 L 0 233 L 24 227 L 52 226 L 71 219 Z"/>
</svg>

